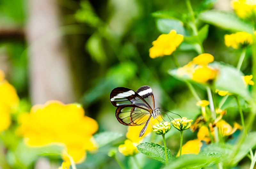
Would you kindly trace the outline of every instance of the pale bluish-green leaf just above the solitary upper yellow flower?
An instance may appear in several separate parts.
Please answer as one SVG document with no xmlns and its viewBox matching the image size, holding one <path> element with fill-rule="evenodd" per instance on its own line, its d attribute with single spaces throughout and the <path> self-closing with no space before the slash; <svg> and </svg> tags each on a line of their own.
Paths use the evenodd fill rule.
<svg viewBox="0 0 256 169">
<path fill-rule="evenodd" d="M 172 29 L 178 34 L 188 35 L 188 31 L 183 27 L 183 23 L 176 19 L 160 18 L 156 20 L 156 26 L 162 33 L 170 33 Z"/>
</svg>

